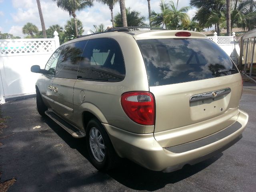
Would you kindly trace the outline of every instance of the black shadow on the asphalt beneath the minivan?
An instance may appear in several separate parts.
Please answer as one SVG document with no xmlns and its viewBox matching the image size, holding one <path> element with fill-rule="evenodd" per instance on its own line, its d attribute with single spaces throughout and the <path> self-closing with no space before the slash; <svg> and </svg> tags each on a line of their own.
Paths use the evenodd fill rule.
<svg viewBox="0 0 256 192">
<path fill-rule="evenodd" d="M 58 136 L 60 136 L 60 138 L 62 138 L 66 142 L 66 144 L 68 144 L 68 146 L 76 149 L 78 152 L 80 152 L 80 154 L 82 154 L 82 156 L 90 161 L 84 138 L 73 138 L 65 130 L 60 128 L 60 126 L 55 124 L 55 122 L 53 122 L 51 119 L 43 118 L 43 120 L 44 122 L 46 122 L 46 124 L 48 124 L 50 128 L 52 128 L 54 132 L 56 132 L 56 134 L 58 134 Z M 193 166 L 186 165 L 182 170 L 171 173 L 154 172 L 143 168 L 131 162 L 130 160 L 123 159 L 121 165 L 118 168 L 110 170 L 106 173 L 98 172 L 97 174 L 100 174 L 102 176 L 104 174 L 107 174 L 120 184 L 134 190 L 154 191 L 163 188 L 164 186 L 166 186 L 166 184 L 174 184 L 200 172 L 201 170 L 218 160 L 222 155 L 223 154 L 220 153 L 208 160 L 205 160 Z"/>
</svg>

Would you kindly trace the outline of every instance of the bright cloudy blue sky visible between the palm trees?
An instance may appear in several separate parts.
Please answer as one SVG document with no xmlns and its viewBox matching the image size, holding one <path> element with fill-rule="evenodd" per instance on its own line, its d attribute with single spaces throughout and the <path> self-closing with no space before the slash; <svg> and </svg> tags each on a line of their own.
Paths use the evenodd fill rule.
<svg viewBox="0 0 256 192">
<path fill-rule="evenodd" d="M 169 0 L 166 0 L 168 2 Z M 179 0 L 178 8 L 189 6 L 190 0 Z M 41 8 L 44 16 L 46 29 L 54 24 L 59 24 L 64 27 L 67 20 L 71 17 L 68 12 L 58 8 L 56 2 L 52 0 L 40 0 Z M 148 1 L 147 0 L 126 0 L 126 8 L 140 12 L 143 16 L 148 17 Z M 151 0 L 151 10 L 160 12 L 160 0 Z M 176 5 L 177 0 L 174 0 Z M 114 15 L 120 12 L 119 3 L 114 6 Z M 190 18 L 194 16 L 195 8 L 188 11 Z M 84 34 L 87 34 L 90 29 L 93 30 L 93 25 L 103 23 L 106 27 L 112 26 L 110 9 L 108 6 L 94 2 L 94 6 L 86 8 L 80 12 L 76 12 L 77 18 L 82 21 L 84 26 Z M 38 7 L 36 0 L 0 0 L 0 31 L 2 33 L 10 33 L 14 36 L 24 37 L 22 27 L 27 22 L 35 24 L 39 30 L 42 30 Z M 148 21 L 147 21 L 148 22 Z"/>
</svg>

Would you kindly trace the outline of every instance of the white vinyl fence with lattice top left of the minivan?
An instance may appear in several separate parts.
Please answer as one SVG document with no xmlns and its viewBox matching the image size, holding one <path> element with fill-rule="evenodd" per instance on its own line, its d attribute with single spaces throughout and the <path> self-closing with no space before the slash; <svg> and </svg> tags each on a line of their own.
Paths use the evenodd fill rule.
<svg viewBox="0 0 256 192">
<path fill-rule="evenodd" d="M 32 65 L 44 68 L 60 46 L 58 33 L 48 39 L 0 40 L 0 103 L 10 98 L 35 94 L 39 74 L 30 72 Z"/>
</svg>

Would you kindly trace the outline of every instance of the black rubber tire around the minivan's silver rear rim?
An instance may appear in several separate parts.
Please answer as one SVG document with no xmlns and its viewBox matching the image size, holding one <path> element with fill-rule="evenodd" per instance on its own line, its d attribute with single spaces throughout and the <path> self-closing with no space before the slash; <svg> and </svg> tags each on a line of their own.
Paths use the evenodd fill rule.
<svg viewBox="0 0 256 192">
<path fill-rule="evenodd" d="M 96 128 L 100 132 L 103 142 L 104 142 L 104 146 L 105 146 L 105 149 L 104 149 L 105 156 L 104 156 L 104 159 L 102 162 L 98 161 L 94 157 L 94 155 L 92 154 L 93 149 L 91 149 L 91 146 L 90 146 L 90 131 L 92 129 L 95 130 L 94 128 Z M 87 124 L 86 145 L 87 145 L 91 163 L 96 169 L 98 169 L 100 171 L 107 171 L 107 170 L 115 168 L 116 164 L 118 164 L 119 157 L 117 156 L 117 154 L 113 148 L 113 145 L 110 141 L 110 138 L 108 137 L 107 132 L 105 131 L 104 127 L 97 119 L 92 119 Z"/>
</svg>

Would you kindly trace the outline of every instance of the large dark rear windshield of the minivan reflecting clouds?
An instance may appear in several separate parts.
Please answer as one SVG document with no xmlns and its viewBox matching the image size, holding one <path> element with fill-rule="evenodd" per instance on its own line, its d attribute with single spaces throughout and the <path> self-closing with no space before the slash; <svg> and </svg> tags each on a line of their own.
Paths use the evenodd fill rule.
<svg viewBox="0 0 256 192">
<path fill-rule="evenodd" d="M 149 86 L 196 81 L 238 73 L 230 57 L 210 39 L 137 40 Z"/>
</svg>

